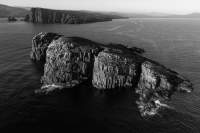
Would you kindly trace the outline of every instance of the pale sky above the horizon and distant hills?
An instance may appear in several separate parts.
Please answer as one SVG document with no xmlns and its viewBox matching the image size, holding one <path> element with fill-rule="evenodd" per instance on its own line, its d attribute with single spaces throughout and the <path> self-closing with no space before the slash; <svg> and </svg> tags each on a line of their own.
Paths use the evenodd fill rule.
<svg viewBox="0 0 200 133">
<path fill-rule="evenodd" d="M 117 12 L 200 12 L 200 0 L 0 0 L 0 4 Z"/>
</svg>

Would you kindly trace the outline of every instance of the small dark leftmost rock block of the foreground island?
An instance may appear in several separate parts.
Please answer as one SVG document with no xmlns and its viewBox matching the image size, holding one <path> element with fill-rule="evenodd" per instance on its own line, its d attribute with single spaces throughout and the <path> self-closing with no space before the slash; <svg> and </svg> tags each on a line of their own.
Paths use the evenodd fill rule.
<svg viewBox="0 0 200 133">
<path fill-rule="evenodd" d="M 44 61 L 46 50 L 52 40 L 59 38 L 61 35 L 56 33 L 39 33 L 32 39 L 32 51 L 30 57 L 34 61 Z"/>
</svg>

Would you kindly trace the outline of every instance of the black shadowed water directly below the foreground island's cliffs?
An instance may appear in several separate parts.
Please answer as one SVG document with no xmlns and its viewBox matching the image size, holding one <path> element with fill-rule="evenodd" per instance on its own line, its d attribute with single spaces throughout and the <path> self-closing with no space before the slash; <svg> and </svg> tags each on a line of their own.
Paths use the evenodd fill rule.
<svg viewBox="0 0 200 133">
<path fill-rule="evenodd" d="M 121 91 L 120 95 L 119 92 L 99 92 L 81 85 L 47 96 L 31 95 L 25 101 L 16 98 L 12 101 L 15 111 L 8 110 L 10 114 L 4 119 L 7 124 L 2 130 L 112 132 L 122 128 L 120 131 L 123 131 L 128 123 L 126 119 L 134 110 L 131 106 L 134 103 L 126 100 L 127 97 L 132 99 L 127 95 L 129 91 Z M 136 118 L 136 115 L 132 117 Z"/>
</svg>

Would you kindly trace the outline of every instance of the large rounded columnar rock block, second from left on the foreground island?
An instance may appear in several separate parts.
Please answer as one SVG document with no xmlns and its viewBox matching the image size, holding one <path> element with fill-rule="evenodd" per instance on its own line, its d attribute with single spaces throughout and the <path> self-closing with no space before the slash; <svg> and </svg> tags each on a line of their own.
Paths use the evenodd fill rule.
<svg viewBox="0 0 200 133">
<path fill-rule="evenodd" d="M 89 79 L 94 55 L 99 50 L 98 46 L 82 38 L 60 37 L 52 41 L 46 51 L 43 89 L 48 89 L 49 86 L 51 89 L 52 86 L 70 88 Z"/>
</svg>

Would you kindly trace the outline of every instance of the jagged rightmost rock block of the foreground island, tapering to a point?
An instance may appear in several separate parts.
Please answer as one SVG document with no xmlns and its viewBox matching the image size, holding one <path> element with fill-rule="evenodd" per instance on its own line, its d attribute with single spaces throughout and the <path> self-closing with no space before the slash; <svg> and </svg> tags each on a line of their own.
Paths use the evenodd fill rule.
<svg viewBox="0 0 200 133">
<path fill-rule="evenodd" d="M 191 92 L 192 84 L 160 64 L 150 61 L 142 63 L 140 80 L 136 88 L 136 93 L 140 96 L 137 104 L 142 115 L 156 114 L 176 91 Z"/>
</svg>

